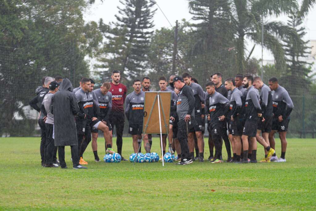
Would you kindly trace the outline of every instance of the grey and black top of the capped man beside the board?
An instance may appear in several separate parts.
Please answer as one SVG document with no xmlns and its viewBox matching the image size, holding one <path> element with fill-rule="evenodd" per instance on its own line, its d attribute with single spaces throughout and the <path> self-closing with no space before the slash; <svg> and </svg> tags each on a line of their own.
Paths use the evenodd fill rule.
<svg viewBox="0 0 316 211">
<path fill-rule="evenodd" d="M 177 100 L 177 114 L 179 121 L 185 118 L 185 115 L 194 114 L 195 99 L 191 87 L 184 85 L 180 89 L 180 93 Z"/>
</svg>

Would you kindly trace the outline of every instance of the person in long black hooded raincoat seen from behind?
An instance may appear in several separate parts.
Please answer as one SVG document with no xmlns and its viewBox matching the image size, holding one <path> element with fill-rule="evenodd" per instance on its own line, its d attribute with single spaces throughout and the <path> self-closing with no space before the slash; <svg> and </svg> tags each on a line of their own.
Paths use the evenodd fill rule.
<svg viewBox="0 0 316 211">
<path fill-rule="evenodd" d="M 51 113 L 54 115 L 54 142 L 58 146 L 58 158 L 61 168 L 67 168 L 65 162 L 65 146 L 71 148 L 74 169 L 87 169 L 79 165 L 78 140 L 75 116 L 79 112 L 76 96 L 68 78 L 61 82 L 58 92 L 52 96 Z"/>
</svg>

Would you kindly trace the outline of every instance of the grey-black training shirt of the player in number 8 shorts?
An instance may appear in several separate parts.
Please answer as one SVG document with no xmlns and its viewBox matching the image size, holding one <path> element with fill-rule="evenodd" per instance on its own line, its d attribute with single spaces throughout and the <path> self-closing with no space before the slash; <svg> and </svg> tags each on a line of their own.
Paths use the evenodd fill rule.
<svg viewBox="0 0 316 211">
<path fill-rule="evenodd" d="M 210 123 L 212 125 L 222 122 L 218 117 L 228 115 L 229 100 L 219 92 L 215 91 L 213 95 L 205 100 L 205 114 L 210 115 Z"/>
</svg>

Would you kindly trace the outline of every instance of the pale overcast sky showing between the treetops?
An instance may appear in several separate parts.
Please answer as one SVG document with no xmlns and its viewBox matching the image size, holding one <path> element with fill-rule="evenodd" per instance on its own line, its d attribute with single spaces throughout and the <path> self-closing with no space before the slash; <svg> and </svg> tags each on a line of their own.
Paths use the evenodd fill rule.
<svg viewBox="0 0 316 211">
<path fill-rule="evenodd" d="M 185 18 L 190 20 L 192 15 L 189 13 L 188 1 L 187 0 L 156 0 L 162 11 L 167 16 L 168 20 L 174 26 L 176 20 L 181 20 Z M 117 6 L 121 6 L 119 0 L 103 0 L 103 3 L 100 0 L 91 6 L 84 14 L 84 19 L 86 21 L 98 21 L 100 18 L 103 18 L 105 23 L 116 21 L 115 14 L 118 14 Z M 157 6 L 155 6 L 157 7 Z M 276 20 L 276 18 L 271 17 L 265 21 Z M 286 22 L 287 17 L 282 16 L 277 18 L 279 21 Z M 170 24 L 163 16 L 162 12 L 158 9 L 154 16 L 154 29 L 159 29 L 161 27 L 170 27 Z M 316 40 L 316 9 L 315 7 L 310 10 L 309 15 L 304 21 L 304 26 L 306 27 L 306 36 L 308 40 Z M 251 49 L 253 43 L 248 41 L 248 49 Z M 256 46 L 252 54 L 252 57 L 261 59 L 261 46 Z M 264 60 L 273 59 L 272 54 L 268 50 L 264 50 Z"/>
</svg>

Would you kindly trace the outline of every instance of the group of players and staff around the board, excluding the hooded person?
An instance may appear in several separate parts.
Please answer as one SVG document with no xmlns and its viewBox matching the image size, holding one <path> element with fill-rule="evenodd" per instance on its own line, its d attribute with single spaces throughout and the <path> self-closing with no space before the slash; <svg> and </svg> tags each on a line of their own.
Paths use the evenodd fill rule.
<svg viewBox="0 0 316 211">
<path fill-rule="evenodd" d="M 73 152 L 75 147 L 71 148 L 72 155 L 77 153 L 73 158 L 74 167 L 84 168 L 82 165 L 88 164 L 83 154 L 91 140 L 94 159 L 100 161 L 97 152 L 99 131 L 103 132 L 105 151 L 113 153 L 114 128 L 117 153 L 122 156 L 122 161 L 126 161 L 122 155 L 125 116 L 129 122 L 128 133 L 132 136 L 134 153 L 141 152 L 142 142 L 145 151 L 151 151 L 152 134 L 143 134 L 145 92 L 153 91 L 150 78 L 135 79 L 133 91 L 128 95 L 126 86 L 120 83 L 120 72 L 113 71 L 111 78 L 112 82 L 104 82 L 96 90 L 95 82 L 89 78 L 82 78 L 80 86 L 73 90 L 72 86 L 69 88 L 68 79 L 63 85 L 64 89 L 67 86 L 66 89 L 72 90 L 78 107 L 78 111 L 73 111 L 77 134 L 77 149 Z M 60 76 L 44 77 L 42 87 L 36 92 L 37 96 L 30 102 L 40 112 L 40 152 L 44 167 L 66 166 L 64 160 L 59 163 L 56 156 L 58 149 L 59 160 L 60 157 L 64 159 L 63 149 L 59 152 L 60 145 L 54 142 L 54 127 L 57 126 L 54 126 L 54 115 L 51 113 L 51 98 L 64 80 Z M 265 152 L 265 158 L 259 162 L 285 162 L 286 133 L 293 102 L 288 92 L 278 84 L 277 78 L 270 78 L 269 86 L 258 76 L 241 74 L 225 79 L 224 84 L 222 82 L 222 74 L 215 73 L 205 84 L 204 91 L 197 79 L 188 73 L 171 75 L 168 80 L 159 78 L 159 90 L 155 91 L 171 92 L 169 130 L 168 134 L 162 134 L 160 142 L 163 155 L 168 140 L 167 150 L 177 153 L 177 164 L 186 165 L 194 160 L 204 162 L 204 132 L 207 127 L 208 160 L 211 163 L 223 162 L 223 140 L 227 151 L 226 162 L 256 163 L 257 142 L 264 147 Z M 40 107 L 37 103 L 40 103 Z M 275 153 L 276 132 L 281 140 L 280 158 Z"/>
</svg>

